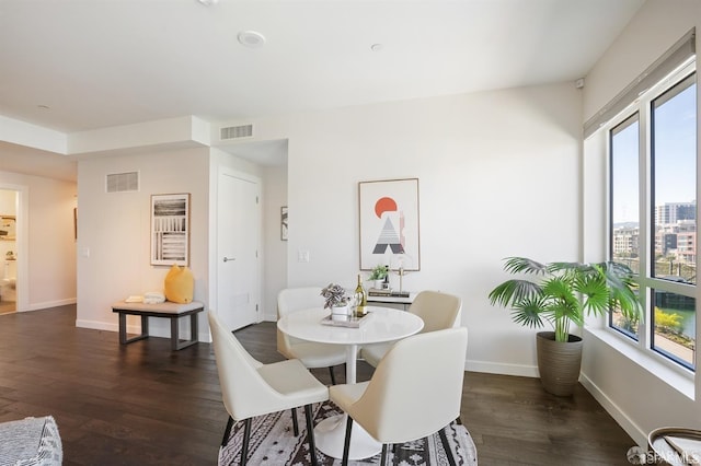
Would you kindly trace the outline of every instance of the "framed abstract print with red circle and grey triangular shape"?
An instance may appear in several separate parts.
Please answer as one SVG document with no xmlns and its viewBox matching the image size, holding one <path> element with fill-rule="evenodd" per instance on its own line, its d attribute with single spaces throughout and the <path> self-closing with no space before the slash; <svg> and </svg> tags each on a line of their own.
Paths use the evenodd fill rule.
<svg viewBox="0 0 701 466">
<path fill-rule="evenodd" d="M 358 183 L 360 270 L 421 270 L 418 178 Z"/>
</svg>

